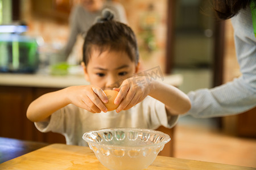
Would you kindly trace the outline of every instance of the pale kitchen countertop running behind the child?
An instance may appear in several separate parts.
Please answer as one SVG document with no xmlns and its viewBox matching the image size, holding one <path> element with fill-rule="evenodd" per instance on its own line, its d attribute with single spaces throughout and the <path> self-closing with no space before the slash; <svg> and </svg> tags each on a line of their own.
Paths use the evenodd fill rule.
<svg viewBox="0 0 256 170">
<path fill-rule="evenodd" d="M 183 77 L 179 74 L 156 78 L 164 83 L 179 87 Z M 48 74 L 12 74 L 0 73 L 0 86 L 65 88 L 69 86 L 88 85 L 83 75 L 55 76 Z"/>
</svg>

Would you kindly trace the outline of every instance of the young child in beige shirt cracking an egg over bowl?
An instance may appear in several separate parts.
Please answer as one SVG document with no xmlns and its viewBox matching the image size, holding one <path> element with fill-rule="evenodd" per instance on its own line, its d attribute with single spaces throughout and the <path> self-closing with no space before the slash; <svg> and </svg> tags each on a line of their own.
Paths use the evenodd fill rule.
<svg viewBox="0 0 256 170">
<path fill-rule="evenodd" d="M 139 67 L 134 32 L 109 14 L 103 16 L 89 29 L 83 47 L 82 66 L 91 85 L 45 94 L 27 109 L 36 128 L 63 134 L 67 145 L 87 146 L 82 134 L 101 128 L 171 128 L 178 114 L 191 107 L 187 95 L 177 88 L 134 76 Z M 119 91 L 115 98 L 119 107 L 107 112 L 103 90 L 113 88 Z"/>
</svg>

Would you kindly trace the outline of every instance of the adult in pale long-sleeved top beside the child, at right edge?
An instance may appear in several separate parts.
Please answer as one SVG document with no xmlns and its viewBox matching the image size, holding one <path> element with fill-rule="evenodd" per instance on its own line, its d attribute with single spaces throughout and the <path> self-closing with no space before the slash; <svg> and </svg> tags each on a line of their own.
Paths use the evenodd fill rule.
<svg viewBox="0 0 256 170">
<path fill-rule="evenodd" d="M 256 28 L 253 27 L 251 14 L 255 1 L 216 0 L 214 8 L 218 18 L 232 18 L 237 60 L 242 75 L 222 86 L 189 92 L 192 108 L 186 115 L 197 118 L 238 114 L 256 106 Z"/>
</svg>

